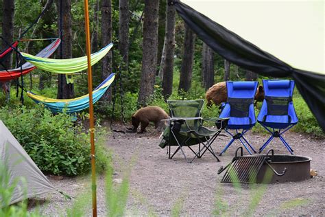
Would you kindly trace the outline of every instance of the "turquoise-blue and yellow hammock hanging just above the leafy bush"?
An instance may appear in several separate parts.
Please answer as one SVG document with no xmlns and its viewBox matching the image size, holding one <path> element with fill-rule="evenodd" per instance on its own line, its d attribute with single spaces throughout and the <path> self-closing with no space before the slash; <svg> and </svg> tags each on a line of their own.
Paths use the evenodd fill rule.
<svg viewBox="0 0 325 217">
<path fill-rule="evenodd" d="M 111 73 L 108 78 L 106 78 L 98 87 L 93 91 L 93 104 L 97 102 L 102 95 L 106 92 L 110 84 L 115 79 L 115 73 Z M 46 98 L 41 95 L 36 95 L 31 91 L 27 91 L 29 98 L 32 98 L 34 102 L 44 104 L 47 108 L 51 109 L 53 113 L 60 113 L 66 109 L 67 113 L 76 113 L 87 109 L 89 106 L 89 95 L 83 95 L 79 98 L 67 99 L 67 100 L 57 100 L 53 98 Z"/>
</svg>

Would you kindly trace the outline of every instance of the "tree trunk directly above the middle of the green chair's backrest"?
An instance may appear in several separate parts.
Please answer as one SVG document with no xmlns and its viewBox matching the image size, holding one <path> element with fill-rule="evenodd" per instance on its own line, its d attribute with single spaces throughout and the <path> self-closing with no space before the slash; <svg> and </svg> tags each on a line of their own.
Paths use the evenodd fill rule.
<svg viewBox="0 0 325 217">
<path fill-rule="evenodd" d="M 180 67 L 180 86 L 178 91 L 188 92 L 191 87 L 195 34 L 185 25 L 182 66 Z"/>
</svg>

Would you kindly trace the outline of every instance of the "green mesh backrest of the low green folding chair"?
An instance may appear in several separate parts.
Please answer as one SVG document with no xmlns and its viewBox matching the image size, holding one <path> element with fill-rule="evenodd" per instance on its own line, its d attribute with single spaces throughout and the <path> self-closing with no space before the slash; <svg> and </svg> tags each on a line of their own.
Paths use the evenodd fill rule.
<svg viewBox="0 0 325 217">
<path fill-rule="evenodd" d="M 168 100 L 169 112 L 171 117 L 200 117 L 204 100 Z M 189 128 L 197 128 L 198 120 L 186 120 Z M 182 124 L 182 130 L 188 130 Z"/>
</svg>

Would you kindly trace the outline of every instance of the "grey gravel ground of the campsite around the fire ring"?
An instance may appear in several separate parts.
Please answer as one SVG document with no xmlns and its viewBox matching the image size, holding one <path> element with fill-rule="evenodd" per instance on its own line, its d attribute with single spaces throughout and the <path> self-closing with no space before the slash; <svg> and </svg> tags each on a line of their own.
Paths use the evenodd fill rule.
<svg viewBox="0 0 325 217">
<path fill-rule="evenodd" d="M 247 138 L 258 149 L 267 135 L 248 134 Z M 213 149 L 221 151 L 228 139 L 217 139 Z M 288 132 L 285 139 L 296 155 L 313 159 L 311 168 L 317 170 L 317 176 L 296 183 L 243 184 L 237 189 L 230 183 L 220 183 L 223 174 L 217 175 L 221 165 L 227 165 L 234 157 L 239 147 L 237 142 L 219 157 L 221 162 L 217 162 L 210 153 L 193 163 L 186 163 L 180 154 L 170 160 L 166 155 L 167 148 L 158 147 L 158 135 L 150 133 L 115 133 L 115 138 L 112 135 L 108 138 L 107 148 L 114 156 L 114 179 L 123 178 L 123 174 L 129 171 L 130 194 L 125 213 L 128 216 L 171 216 L 171 210 L 176 207 L 180 209 L 181 216 L 247 216 L 249 212 L 254 216 L 324 216 L 325 140 L 292 132 Z M 289 154 L 278 139 L 272 141 L 268 148 L 273 148 L 279 155 Z M 64 210 L 71 208 L 77 200 L 77 195 L 90 189 L 91 181 L 89 176 L 64 177 L 62 180 L 49 177 L 49 180 L 73 199 L 65 201 L 60 194 L 48 194 L 32 200 L 30 209 L 36 209 L 34 204 L 38 203 L 38 211 L 45 216 L 64 215 Z M 264 187 L 265 190 L 261 190 Z M 252 198 L 256 207 L 251 203 Z M 98 215 L 106 216 L 104 176 L 97 178 L 97 203 Z M 91 216 L 91 213 L 86 216 Z"/>
</svg>

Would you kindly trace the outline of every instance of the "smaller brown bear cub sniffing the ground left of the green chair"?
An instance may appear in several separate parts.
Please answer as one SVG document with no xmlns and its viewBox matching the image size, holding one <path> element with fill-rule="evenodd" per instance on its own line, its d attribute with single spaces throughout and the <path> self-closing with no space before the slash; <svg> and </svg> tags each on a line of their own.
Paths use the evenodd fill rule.
<svg viewBox="0 0 325 217">
<path fill-rule="evenodd" d="M 141 123 L 140 133 L 146 132 L 145 128 L 149 125 L 149 122 L 154 122 L 155 128 L 163 127 L 166 122 L 161 120 L 168 119 L 169 115 L 161 109 L 159 106 L 147 106 L 139 109 L 132 115 L 132 126 L 133 132 L 136 133 L 136 130 Z"/>
</svg>

